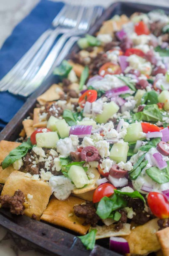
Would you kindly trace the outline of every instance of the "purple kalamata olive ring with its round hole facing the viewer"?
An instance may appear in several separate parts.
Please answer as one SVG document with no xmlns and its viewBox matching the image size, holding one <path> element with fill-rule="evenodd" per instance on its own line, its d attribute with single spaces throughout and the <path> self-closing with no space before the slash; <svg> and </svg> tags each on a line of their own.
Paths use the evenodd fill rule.
<svg viewBox="0 0 169 256">
<path fill-rule="evenodd" d="M 90 154 L 88 154 L 90 152 Z M 95 161 L 98 158 L 99 151 L 94 146 L 84 147 L 80 153 L 80 157 L 82 161 Z"/>
</svg>

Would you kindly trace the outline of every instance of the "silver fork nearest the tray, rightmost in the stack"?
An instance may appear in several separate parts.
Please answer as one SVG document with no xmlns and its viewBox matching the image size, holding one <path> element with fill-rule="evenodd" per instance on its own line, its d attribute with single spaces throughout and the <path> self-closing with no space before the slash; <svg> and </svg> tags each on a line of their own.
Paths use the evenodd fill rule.
<svg viewBox="0 0 169 256">
<path fill-rule="evenodd" d="M 82 35 L 82 34 L 86 33 L 88 31 L 90 25 L 92 23 L 94 23 L 94 21 L 96 20 L 98 15 L 99 16 L 101 15 L 102 11 L 103 11 L 103 8 L 100 8 L 100 7 L 99 8 L 96 8 L 96 7 L 95 8 L 94 7 L 85 8 L 83 17 L 78 25 L 78 28 L 74 31 L 71 31 L 71 33 L 63 34 L 62 37 L 60 37 L 60 39 L 55 44 L 55 46 L 49 53 L 48 57 L 45 59 L 44 63 L 42 64 L 41 68 L 39 69 L 39 71 L 37 72 L 35 77 L 23 89 L 19 90 L 18 94 L 20 94 L 22 96 L 27 96 L 30 93 L 32 93 L 32 91 L 34 91 L 41 84 L 41 82 L 44 80 L 44 78 L 47 77 L 48 75 L 50 75 L 51 72 L 53 71 L 54 67 L 56 66 L 55 62 L 57 61 L 57 56 L 58 56 L 60 50 L 62 49 L 64 43 L 66 42 L 66 40 L 71 36 Z M 78 40 L 78 37 L 73 37 L 72 40 L 71 40 L 71 38 L 69 40 L 70 40 L 70 42 L 66 43 L 64 46 L 64 51 L 66 53 L 67 53 L 66 47 L 69 47 L 69 49 L 70 49 L 70 46 L 72 46 L 73 43 L 75 43 L 75 41 Z M 60 52 L 59 56 L 61 56 L 61 54 L 63 54 L 63 56 L 65 56 L 64 51 L 62 50 Z M 57 62 L 57 64 L 58 64 L 58 62 Z"/>
</svg>

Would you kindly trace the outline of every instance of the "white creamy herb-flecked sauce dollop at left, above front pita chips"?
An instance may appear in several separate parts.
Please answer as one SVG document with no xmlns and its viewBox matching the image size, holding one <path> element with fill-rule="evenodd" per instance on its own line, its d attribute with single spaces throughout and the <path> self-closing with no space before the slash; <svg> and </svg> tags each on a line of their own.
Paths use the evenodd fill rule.
<svg viewBox="0 0 169 256">
<path fill-rule="evenodd" d="M 49 186 L 51 187 L 52 192 L 54 192 L 54 196 L 59 200 L 66 200 L 75 188 L 72 181 L 64 176 L 51 177 Z"/>
</svg>

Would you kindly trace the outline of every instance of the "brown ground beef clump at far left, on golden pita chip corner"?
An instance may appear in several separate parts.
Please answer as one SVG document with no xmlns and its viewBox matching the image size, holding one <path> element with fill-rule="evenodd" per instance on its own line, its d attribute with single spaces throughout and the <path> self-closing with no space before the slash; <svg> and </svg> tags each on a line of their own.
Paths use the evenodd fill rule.
<svg viewBox="0 0 169 256">
<path fill-rule="evenodd" d="M 12 214 L 23 215 L 23 210 L 25 209 L 23 206 L 24 197 L 23 192 L 18 189 L 12 197 L 9 195 L 0 196 L 0 203 L 3 208 L 10 208 Z"/>
</svg>

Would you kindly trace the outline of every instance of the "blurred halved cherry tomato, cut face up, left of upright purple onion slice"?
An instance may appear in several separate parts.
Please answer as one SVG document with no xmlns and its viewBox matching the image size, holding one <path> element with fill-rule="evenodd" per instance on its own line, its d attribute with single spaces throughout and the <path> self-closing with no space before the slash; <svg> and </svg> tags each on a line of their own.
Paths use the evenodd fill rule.
<svg viewBox="0 0 169 256">
<path fill-rule="evenodd" d="M 117 75 L 121 74 L 121 67 L 118 64 L 114 64 L 112 62 L 107 62 L 99 69 L 99 75 Z"/>
</svg>

